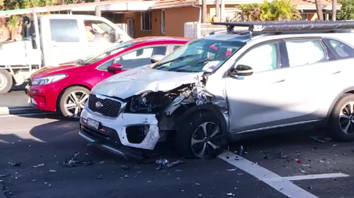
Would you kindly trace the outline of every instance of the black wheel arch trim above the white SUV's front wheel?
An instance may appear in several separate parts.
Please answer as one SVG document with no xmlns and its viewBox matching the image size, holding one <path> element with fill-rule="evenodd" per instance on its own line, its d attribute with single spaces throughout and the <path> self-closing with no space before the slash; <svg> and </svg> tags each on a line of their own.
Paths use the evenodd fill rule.
<svg viewBox="0 0 354 198">
<path fill-rule="evenodd" d="M 215 105 L 212 105 L 210 103 L 196 105 L 194 107 L 191 107 L 189 110 L 184 112 L 181 116 L 179 116 L 176 119 L 173 128 L 176 129 L 176 127 L 179 124 L 181 124 L 183 121 L 187 120 L 188 117 L 190 117 L 190 115 L 193 115 L 198 112 L 210 112 L 213 115 L 215 115 L 217 117 L 217 119 L 219 119 L 220 122 L 222 123 L 222 126 L 221 126 L 222 127 L 222 134 L 228 136 L 228 132 L 227 132 L 228 126 L 227 126 L 227 122 L 226 122 L 224 116 L 222 115 L 222 112 L 220 112 L 220 110 L 217 107 L 215 107 Z"/>
</svg>

